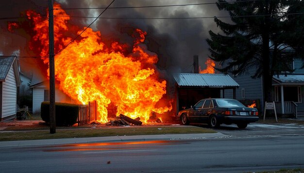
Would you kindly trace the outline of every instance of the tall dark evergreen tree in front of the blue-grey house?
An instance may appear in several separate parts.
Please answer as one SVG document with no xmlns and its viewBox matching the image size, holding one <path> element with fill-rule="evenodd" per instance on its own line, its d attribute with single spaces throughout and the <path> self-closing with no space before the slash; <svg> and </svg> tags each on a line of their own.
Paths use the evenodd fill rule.
<svg viewBox="0 0 304 173">
<path fill-rule="evenodd" d="M 262 77 L 264 98 L 271 101 L 272 76 L 293 72 L 293 58 L 304 60 L 304 0 L 218 0 L 217 6 L 232 22 L 214 18 L 222 33 L 209 31 L 209 58 L 224 73 L 256 69 L 252 77 Z"/>
</svg>

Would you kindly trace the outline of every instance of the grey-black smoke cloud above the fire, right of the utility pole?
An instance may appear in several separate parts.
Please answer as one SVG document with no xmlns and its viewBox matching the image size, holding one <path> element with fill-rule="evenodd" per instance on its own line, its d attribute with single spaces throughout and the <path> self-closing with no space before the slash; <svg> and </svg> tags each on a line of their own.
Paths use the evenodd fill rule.
<svg viewBox="0 0 304 173">
<path fill-rule="evenodd" d="M 112 0 L 58 0 L 63 8 L 89 8 L 106 7 Z M 204 3 L 208 1 L 203 1 Z M 211 0 L 209 2 L 216 2 Z M 195 4 L 202 0 L 115 0 L 111 7 L 157 6 L 170 4 Z M 98 16 L 103 9 L 91 10 L 67 10 L 70 15 Z M 107 9 L 101 17 L 125 17 L 125 18 L 185 18 L 227 15 L 220 12 L 215 4 L 176 6 L 176 7 L 152 7 L 152 8 L 126 8 Z M 81 22 L 83 26 L 94 19 L 73 20 Z M 99 19 L 93 25 L 93 29 L 101 31 L 101 35 L 107 38 L 115 38 L 121 42 L 124 40 L 124 27 L 139 28 L 147 31 L 146 44 L 148 49 L 158 55 L 158 67 L 167 72 L 191 72 L 186 69 L 193 63 L 193 56 L 198 55 L 200 66 L 205 68 L 204 62 L 208 55 L 206 38 L 208 31 L 219 30 L 213 18 L 209 19 Z M 185 70 L 186 69 L 186 70 Z M 193 72 L 193 71 L 192 71 Z"/>
</svg>

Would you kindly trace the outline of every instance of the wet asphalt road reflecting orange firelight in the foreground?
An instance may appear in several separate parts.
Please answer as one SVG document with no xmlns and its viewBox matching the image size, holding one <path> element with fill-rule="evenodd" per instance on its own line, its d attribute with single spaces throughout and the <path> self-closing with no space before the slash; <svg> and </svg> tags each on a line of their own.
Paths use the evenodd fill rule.
<svg viewBox="0 0 304 173">
<path fill-rule="evenodd" d="M 226 130 L 227 131 L 227 130 Z M 304 168 L 304 136 L 0 147 L 2 173 L 243 173 Z"/>
</svg>

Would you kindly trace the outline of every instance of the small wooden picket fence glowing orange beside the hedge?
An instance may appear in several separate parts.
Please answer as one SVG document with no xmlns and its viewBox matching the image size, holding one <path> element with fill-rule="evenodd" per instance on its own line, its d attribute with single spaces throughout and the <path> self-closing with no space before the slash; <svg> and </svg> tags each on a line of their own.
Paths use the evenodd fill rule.
<svg viewBox="0 0 304 173">
<path fill-rule="evenodd" d="M 96 113 L 96 101 L 90 101 L 88 104 L 79 104 L 78 126 L 96 121 Z"/>
</svg>

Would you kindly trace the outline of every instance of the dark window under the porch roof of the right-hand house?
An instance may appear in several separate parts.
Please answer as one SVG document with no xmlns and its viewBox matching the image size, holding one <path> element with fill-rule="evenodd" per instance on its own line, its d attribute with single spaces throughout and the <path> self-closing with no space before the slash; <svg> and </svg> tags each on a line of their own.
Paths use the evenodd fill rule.
<svg viewBox="0 0 304 173">
<path fill-rule="evenodd" d="M 284 101 L 302 102 L 301 87 L 284 87 Z"/>
</svg>

